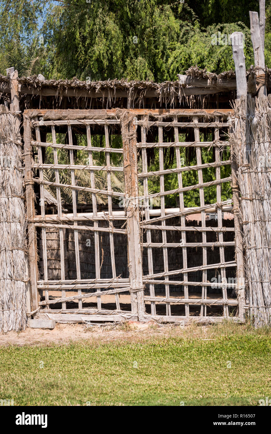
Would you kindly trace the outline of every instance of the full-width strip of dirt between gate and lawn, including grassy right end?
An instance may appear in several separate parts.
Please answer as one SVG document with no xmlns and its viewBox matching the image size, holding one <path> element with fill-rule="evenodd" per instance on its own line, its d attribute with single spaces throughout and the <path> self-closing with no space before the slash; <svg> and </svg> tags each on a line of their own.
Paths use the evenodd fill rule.
<svg viewBox="0 0 271 434">
<path fill-rule="evenodd" d="M 122 342 L 145 342 L 149 339 L 201 339 L 203 341 L 227 339 L 232 335 L 267 335 L 271 337 L 271 329 L 254 329 L 252 325 L 235 324 L 225 322 L 213 325 L 177 325 L 177 324 L 153 324 L 145 323 L 144 328 L 137 322 L 125 322 L 122 324 L 61 324 L 57 323 L 53 330 L 30 329 L 24 332 L 0 333 L 0 346 L 7 345 L 67 345 L 71 342 L 87 342 L 93 345 L 98 343 Z"/>
</svg>

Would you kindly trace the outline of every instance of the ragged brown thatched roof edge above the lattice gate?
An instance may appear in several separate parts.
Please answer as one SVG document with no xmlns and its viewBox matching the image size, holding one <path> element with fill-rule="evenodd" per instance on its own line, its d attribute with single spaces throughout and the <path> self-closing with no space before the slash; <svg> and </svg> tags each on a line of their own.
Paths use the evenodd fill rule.
<svg viewBox="0 0 271 434">
<path fill-rule="evenodd" d="M 247 72 L 249 74 L 251 69 Z M 48 97 L 57 100 L 57 106 L 63 107 L 63 98 L 72 97 L 75 103 L 71 108 L 177 108 L 190 106 L 208 108 L 207 101 L 212 95 L 220 94 L 220 99 L 227 103 L 235 99 L 236 79 L 234 71 L 221 74 L 208 72 L 192 66 L 185 75 L 178 75 L 176 81 L 155 83 L 152 81 L 128 81 L 126 79 L 109 79 L 103 81 L 80 81 L 76 77 L 71 80 L 44 79 L 43 76 L 18 78 L 20 99 L 27 99 L 26 107 L 47 108 L 52 102 Z M 271 87 L 271 69 L 267 69 L 268 87 Z M 10 93 L 9 77 L 0 75 L 0 92 Z M 40 99 L 39 107 L 31 102 L 34 95 Z M 207 95 L 207 96 L 206 96 Z M 225 96 L 223 96 L 225 95 Z M 41 99 L 43 101 L 41 102 Z M 122 99 L 120 101 L 120 99 Z M 193 100 L 193 101 L 192 101 Z M 98 104 L 99 107 L 95 107 Z M 70 105 L 70 101 L 68 102 Z M 63 107 L 68 108 L 68 107 Z M 223 107 L 220 107 L 223 108 Z"/>
</svg>

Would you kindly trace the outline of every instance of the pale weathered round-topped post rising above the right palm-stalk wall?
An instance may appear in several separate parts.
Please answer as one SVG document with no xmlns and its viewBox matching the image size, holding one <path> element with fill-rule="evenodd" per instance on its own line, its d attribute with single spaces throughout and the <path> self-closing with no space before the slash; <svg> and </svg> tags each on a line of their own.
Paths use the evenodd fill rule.
<svg viewBox="0 0 271 434">
<path fill-rule="evenodd" d="M 243 48 L 244 35 L 241 32 L 231 34 L 232 57 L 235 62 L 237 98 L 247 95 L 247 78 L 245 69 L 245 55 Z"/>
</svg>

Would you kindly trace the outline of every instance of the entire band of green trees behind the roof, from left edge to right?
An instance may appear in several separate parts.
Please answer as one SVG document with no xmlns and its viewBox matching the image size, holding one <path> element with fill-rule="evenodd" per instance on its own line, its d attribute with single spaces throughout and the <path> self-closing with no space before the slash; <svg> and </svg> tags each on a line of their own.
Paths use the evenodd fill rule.
<svg viewBox="0 0 271 434">
<path fill-rule="evenodd" d="M 175 80 L 197 64 L 233 69 L 231 46 L 212 35 L 245 34 L 253 63 L 249 10 L 258 0 L 0 0 L 0 72 L 85 80 Z M 265 61 L 271 61 L 271 3 L 266 2 Z M 40 41 L 44 37 L 44 44 Z"/>
</svg>

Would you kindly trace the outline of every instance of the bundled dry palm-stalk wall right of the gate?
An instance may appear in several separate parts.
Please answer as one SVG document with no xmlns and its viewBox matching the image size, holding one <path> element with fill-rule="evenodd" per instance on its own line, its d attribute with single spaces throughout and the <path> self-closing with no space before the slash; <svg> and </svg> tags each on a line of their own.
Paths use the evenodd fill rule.
<svg viewBox="0 0 271 434">
<path fill-rule="evenodd" d="M 233 158 L 238 165 L 239 215 L 243 228 L 246 260 L 246 302 L 255 327 L 271 325 L 271 99 L 269 97 L 237 99 L 230 134 Z"/>
</svg>

